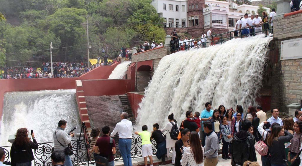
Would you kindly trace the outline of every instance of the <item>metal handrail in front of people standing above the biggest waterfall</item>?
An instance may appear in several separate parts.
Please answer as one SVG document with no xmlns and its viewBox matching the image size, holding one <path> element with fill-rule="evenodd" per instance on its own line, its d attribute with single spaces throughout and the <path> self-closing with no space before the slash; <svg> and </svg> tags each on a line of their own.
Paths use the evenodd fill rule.
<svg viewBox="0 0 302 166">
<path fill-rule="evenodd" d="M 272 21 L 271 21 L 272 22 Z M 267 22 L 267 23 L 264 23 L 264 24 L 269 24 L 269 22 Z M 263 24 L 263 25 L 264 25 Z M 253 25 L 253 26 L 251 26 L 251 27 L 255 27 L 256 25 Z M 216 40 L 216 41 L 220 41 L 221 43 L 222 43 L 222 36 L 224 35 L 224 34 L 227 34 L 227 33 L 230 33 L 230 37 L 229 38 L 225 38 L 225 39 L 232 39 L 232 38 L 234 38 L 234 37 L 237 37 L 237 36 L 233 36 L 232 37 L 232 32 L 235 32 L 235 31 L 239 31 L 239 32 L 241 32 L 241 30 L 245 30 L 245 29 L 247 29 L 247 28 L 249 28 L 249 27 L 244 27 L 244 28 L 241 28 L 241 29 L 238 29 L 238 30 L 233 30 L 233 31 L 229 31 L 229 32 L 225 32 L 225 33 L 220 33 L 220 34 L 217 34 L 217 35 L 212 35 L 212 36 L 206 36 L 206 37 L 203 37 L 203 38 L 198 38 L 198 39 L 194 39 L 194 40 L 197 40 L 197 42 L 198 42 L 198 40 L 200 40 L 200 39 L 206 39 L 206 38 L 212 38 L 212 41 L 210 41 L 210 42 L 213 42 L 213 45 L 214 45 L 214 42 L 215 41 L 213 41 L 213 39 L 214 39 L 214 37 L 215 36 L 220 36 L 220 40 Z M 267 32 L 267 30 L 272 30 L 272 28 L 270 28 L 270 29 L 266 29 L 266 30 L 262 30 L 262 31 L 265 31 L 265 37 L 267 37 L 266 36 L 266 32 Z M 259 31 L 259 32 L 262 32 L 262 31 Z M 255 32 L 254 32 L 255 33 Z M 252 33 L 249 33 L 249 34 L 252 34 Z M 241 38 L 242 38 L 242 36 L 246 36 L 246 35 L 249 35 L 249 34 L 244 34 L 244 35 L 238 35 L 238 36 L 241 36 Z M 190 41 L 189 41 L 190 42 Z M 184 44 L 184 43 L 186 43 L 186 42 L 181 42 L 181 43 L 178 43 L 179 45 L 180 44 Z M 202 42 L 202 44 L 203 43 L 209 43 L 209 42 Z M 199 44 L 195 44 L 195 45 L 199 45 Z M 173 49 L 173 50 L 176 50 L 176 48 L 175 49 Z"/>
</svg>

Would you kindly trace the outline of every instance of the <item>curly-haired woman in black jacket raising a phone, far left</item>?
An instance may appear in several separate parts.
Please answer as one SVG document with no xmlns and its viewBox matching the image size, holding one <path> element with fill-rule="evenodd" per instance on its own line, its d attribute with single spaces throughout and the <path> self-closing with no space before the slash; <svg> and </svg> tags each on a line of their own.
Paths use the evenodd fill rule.
<svg viewBox="0 0 302 166">
<path fill-rule="evenodd" d="M 35 134 L 32 142 L 28 138 L 28 130 L 20 128 L 17 130 L 16 138 L 11 146 L 11 164 L 13 166 L 31 166 L 31 161 L 34 160 L 34 154 L 31 149 L 38 149 L 38 143 L 35 139 Z"/>
</svg>

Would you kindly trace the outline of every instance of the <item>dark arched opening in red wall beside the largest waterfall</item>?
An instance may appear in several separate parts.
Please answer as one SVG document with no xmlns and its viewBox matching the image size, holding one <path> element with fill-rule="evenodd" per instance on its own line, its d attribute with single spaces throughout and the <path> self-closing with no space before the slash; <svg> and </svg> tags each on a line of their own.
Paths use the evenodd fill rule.
<svg viewBox="0 0 302 166">
<path fill-rule="evenodd" d="M 149 81 L 152 77 L 151 66 L 142 65 L 137 68 L 136 72 L 136 90 L 139 92 L 144 92 L 145 88 L 148 86 Z"/>
</svg>

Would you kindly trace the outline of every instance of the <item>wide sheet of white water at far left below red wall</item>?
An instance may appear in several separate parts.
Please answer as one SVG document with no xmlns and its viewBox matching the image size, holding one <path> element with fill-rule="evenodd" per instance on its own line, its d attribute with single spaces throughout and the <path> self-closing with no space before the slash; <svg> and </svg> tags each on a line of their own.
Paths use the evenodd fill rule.
<svg viewBox="0 0 302 166">
<path fill-rule="evenodd" d="M 80 126 L 75 89 L 8 92 L 4 95 L 0 126 L 0 146 L 11 145 L 9 135 L 18 128 L 34 130 L 38 143 L 53 142 L 53 131 L 61 119 L 67 121 L 66 132 Z M 75 131 L 79 133 L 79 131 Z"/>
</svg>

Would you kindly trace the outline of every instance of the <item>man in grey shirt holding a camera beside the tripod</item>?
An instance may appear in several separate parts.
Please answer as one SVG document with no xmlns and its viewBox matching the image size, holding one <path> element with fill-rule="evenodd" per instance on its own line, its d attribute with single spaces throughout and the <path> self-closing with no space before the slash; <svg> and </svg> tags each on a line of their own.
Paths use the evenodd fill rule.
<svg viewBox="0 0 302 166">
<path fill-rule="evenodd" d="M 71 139 L 68 137 L 67 133 L 64 131 L 67 125 L 67 121 L 60 120 L 59 125 L 53 133 L 54 149 L 53 151 L 61 151 L 65 154 L 66 147 L 70 144 Z M 70 133 L 70 136 L 73 137 L 74 133 Z M 71 159 L 69 155 L 65 154 L 65 166 L 72 166 Z"/>
</svg>

